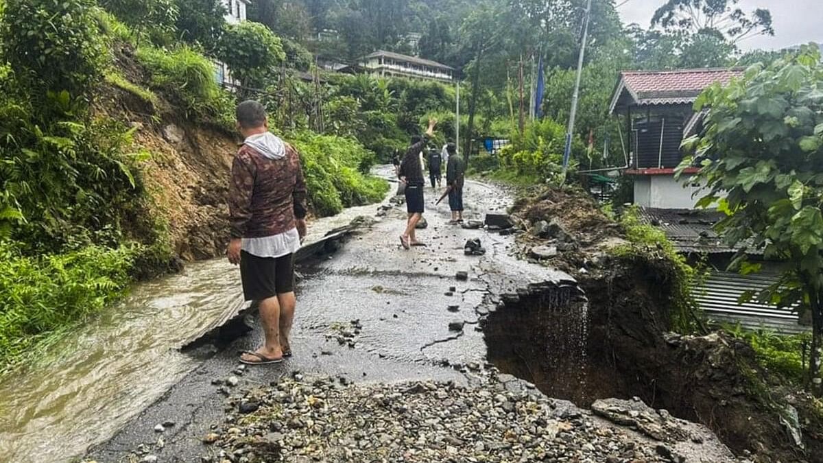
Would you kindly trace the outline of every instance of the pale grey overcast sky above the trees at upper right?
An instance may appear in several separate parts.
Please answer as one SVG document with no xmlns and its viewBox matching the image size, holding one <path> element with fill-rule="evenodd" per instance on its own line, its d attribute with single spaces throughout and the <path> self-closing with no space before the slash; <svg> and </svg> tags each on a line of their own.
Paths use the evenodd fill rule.
<svg viewBox="0 0 823 463">
<path fill-rule="evenodd" d="M 616 0 L 618 5 L 624 0 Z M 649 28 L 654 11 L 666 0 L 627 0 L 618 8 L 623 22 Z M 767 8 L 774 21 L 774 37 L 758 35 L 743 40 L 741 49 L 783 49 L 796 44 L 823 42 L 823 0 L 740 0 L 745 12 Z"/>
</svg>

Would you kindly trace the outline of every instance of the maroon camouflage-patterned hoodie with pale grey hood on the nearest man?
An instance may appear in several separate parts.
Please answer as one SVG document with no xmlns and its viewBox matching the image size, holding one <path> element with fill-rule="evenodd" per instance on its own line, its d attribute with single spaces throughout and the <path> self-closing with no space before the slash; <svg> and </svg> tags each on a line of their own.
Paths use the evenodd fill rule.
<svg viewBox="0 0 823 463">
<path fill-rule="evenodd" d="M 295 218 L 305 218 L 306 209 L 300 154 L 272 133 L 247 138 L 231 166 L 231 237 L 289 232 L 296 226 Z"/>
</svg>

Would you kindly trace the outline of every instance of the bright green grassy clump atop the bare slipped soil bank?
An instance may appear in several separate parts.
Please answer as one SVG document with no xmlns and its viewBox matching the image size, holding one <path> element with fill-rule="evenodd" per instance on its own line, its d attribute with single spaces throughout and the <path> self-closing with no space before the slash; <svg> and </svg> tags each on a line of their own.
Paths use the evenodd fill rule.
<svg viewBox="0 0 823 463">
<path fill-rule="evenodd" d="M 137 60 L 151 73 L 151 87 L 183 104 L 191 119 L 234 129 L 235 101 L 217 85 L 215 64 L 188 46 L 173 50 L 140 47 Z"/>
</svg>

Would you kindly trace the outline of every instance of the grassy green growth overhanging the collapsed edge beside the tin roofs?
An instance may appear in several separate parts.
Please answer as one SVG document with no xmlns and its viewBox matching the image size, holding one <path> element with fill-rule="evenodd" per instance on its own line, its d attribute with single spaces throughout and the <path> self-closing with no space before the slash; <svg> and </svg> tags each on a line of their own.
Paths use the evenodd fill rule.
<svg viewBox="0 0 823 463">
<path fill-rule="evenodd" d="M 703 278 L 700 269 L 692 267 L 686 257 L 677 252 L 663 230 L 642 222 L 637 208 L 623 211 L 621 227 L 629 244 L 616 246 L 611 252 L 649 269 L 649 278 L 656 279 L 675 309 L 671 314 L 671 329 L 682 334 L 705 331 L 700 307 L 691 295 L 691 288 L 699 285 Z"/>
</svg>

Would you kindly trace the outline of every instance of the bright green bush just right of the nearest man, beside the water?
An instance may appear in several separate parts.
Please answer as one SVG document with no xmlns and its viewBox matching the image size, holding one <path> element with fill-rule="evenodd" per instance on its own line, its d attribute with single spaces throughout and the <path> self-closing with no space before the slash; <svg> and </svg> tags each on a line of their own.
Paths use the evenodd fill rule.
<svg viewBox="0 0 823 463">
<path fill-rule="evenodd" d="M 318 216 L 377 203 L 388 192 L 387 182 L 364 173 L 374 163 L 374 154 L 356 140 L 301 132 L 293 143 L 301 155 L 311 208 Z"/>
</svg>

